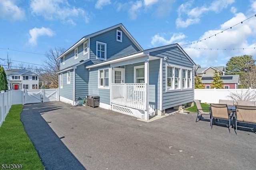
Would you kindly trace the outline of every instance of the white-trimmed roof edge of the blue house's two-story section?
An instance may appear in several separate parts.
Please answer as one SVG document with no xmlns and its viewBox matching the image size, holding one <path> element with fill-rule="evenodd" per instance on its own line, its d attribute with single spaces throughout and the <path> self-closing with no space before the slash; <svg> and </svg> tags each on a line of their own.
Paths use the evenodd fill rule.
<svg viewBox="0 0 256 170">
<path fill-rule="evenodd" d="M 76 47 L 78 47 L 78 45 L 84 43 L 86 40 L 88 40 L 89 38 L 92 38 L 94 36 L 98 36 L 102 33 L 108 32 L 110 30 L 116 29 L 116 28 L 120 28 L 124 34 L 126 34 L 128 36 L 128 38 L 136 45 L 136 47 L 141 51 L 143 50 L 143 48 L 140 46 L 140 44 L 132 37 L 132 35 L 128 32 L 128 30 L 126 30 L 126 28 L 123 26 L 122 23 L 117 24 L 115 26 L 106 28 L 104 30 L 89 34 L 87 36 L 84 36 L 83 38 L 81 38 L 78 42 L 76 42 L 74 45 L 72 45 L 72 47 L 70 47 L 69 49 L 67 49 L 64 53 L 62 53 L 57 59 L 60 59 L 62 57 L 64 57 L 64 55 L 66 55 L 67 53 L 69 53 L 70 51 L 72 51 L 73 49 L 75 49 Z"/>
</svg>

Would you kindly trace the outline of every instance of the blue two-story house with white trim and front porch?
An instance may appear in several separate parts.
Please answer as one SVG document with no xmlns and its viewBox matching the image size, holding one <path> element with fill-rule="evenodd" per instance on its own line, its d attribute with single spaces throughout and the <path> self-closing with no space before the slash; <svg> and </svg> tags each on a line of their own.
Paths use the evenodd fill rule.
<svg viewBox="0 0 256 170">
<path fill-rule="evenodd" d="M 60 101 L 149 119 L 194 99 L 195 63 L 178 44 L 143 50 L 122 24 L 84 36 L 62 53 Z"/>
</svg>

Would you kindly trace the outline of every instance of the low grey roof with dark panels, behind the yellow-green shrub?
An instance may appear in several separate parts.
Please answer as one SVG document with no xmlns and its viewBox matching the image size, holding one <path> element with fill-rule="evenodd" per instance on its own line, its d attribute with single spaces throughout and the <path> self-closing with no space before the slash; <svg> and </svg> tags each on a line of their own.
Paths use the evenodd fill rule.
<svg viewBox="0 0 256 170">
<path fill-rule="evenodd" d="M 223 80 L 223 83 L 239 83 L 239 75 L 222 75 L 220 78 Z M 212 83 L 212 76 L 202 77 L 202 83 Z"/>
</svg>

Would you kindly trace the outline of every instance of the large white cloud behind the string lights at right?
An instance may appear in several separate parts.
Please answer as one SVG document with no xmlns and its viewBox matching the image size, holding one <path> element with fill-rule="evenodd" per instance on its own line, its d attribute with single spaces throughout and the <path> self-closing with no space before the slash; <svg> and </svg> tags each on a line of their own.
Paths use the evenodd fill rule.
<svg viewBox="0 0 256 170">
<path fill-rule="evenodd" d="M 254 47 L 256 47 L 256 42 L 253 40 L 255 40 L 256 26 L 254 20 L 247 20 L 243 24 L 238 24 L 237 26 L 232 27 L 232 29 L 217 34 L 246 18 L 248 17 L 244 14 L 238 13 L 227 22 L 221 24 L 218 30 L 209 30 L 205 32 L 198 39 L 198 42 L 192 43 L 189 45 L 190 47 L 183 48 L 194 62 L 200 64 L 202 67 L 226 65 L 231 57 L 239 55 L 247 54 L 255 57 L 256 51 Z M 208 38 L 214 34 L 217 35 Z M 204 40 L 204 38 L 207 39 Z M 200 42 L 199 40 L 202 41 Z M 252 49 L 246 49 L 251 47 Z"/>
</svg>

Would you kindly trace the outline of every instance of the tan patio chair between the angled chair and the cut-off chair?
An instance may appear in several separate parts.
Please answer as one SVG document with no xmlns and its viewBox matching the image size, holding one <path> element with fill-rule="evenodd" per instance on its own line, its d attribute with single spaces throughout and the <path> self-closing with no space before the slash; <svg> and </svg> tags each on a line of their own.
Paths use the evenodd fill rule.
<svg viewBox="0 0 256 170">
<path fill-rule="evenodd" d="M 211 107 L 211 126 L 214 124 L 215 119 L 222 119 L 222 120 L 227 120 L 229 121 L 229 124 L 226 123 L 220 123 L 224 125 L 228 125 L 228 130 L 230 132 L 230 122 L 231 122 L 231 117 L 232 113 L 228 113 L 228 106 L 227 104 L 210 104 Z"/>
</svg>

